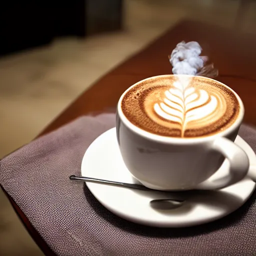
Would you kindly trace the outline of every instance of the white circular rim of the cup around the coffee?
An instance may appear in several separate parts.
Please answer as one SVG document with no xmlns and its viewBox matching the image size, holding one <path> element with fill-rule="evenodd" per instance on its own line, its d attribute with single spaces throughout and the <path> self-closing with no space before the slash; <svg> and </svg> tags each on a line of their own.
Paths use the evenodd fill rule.
<svg viewBox="0 0 256 256">
<path fill-rule="evenodd" d="M 165 144 L 169 144 L 169 143 L 175 143 L 175 144 L 193 144 L 193 143 L 202 143 L 205 141 L 211 141 L 214 140 L 215 138 L 218 137 L 224 137 L 228 134 L 230 134 L 233 130 L 235 130 L 237 127 L 240 126 L 243 116 L 244 116 L 244 105 L 242 103 L 241 98 L 239 97 L 239 95 L 230 87 L 228 87 L 226 84 L 217 81 L 215 79 L 209 78 L 209 77 L 205 77 L 205 76 L 200 76 L 197 75 L 196 77 L 202 77 L 203 79 L 208 79 L 208 80 L 212 80 L 214 82 L 220 83 L 221 85 L 223 85 L 224 87 L 226 87 L 227 89 L 229 89 L 237 98 L 239 105 L 240 105 L 240 110 L 239 110 L 239 114 L 237 119 L 234 121 L 234 123 L 229 126 L 228 128 L 226 128 L 225 130 L 218 132 L 216 134 L 212 134 L 212 135 L 206 135 L 206 136 L 201 136 L 201 137 L 170 137 L 170 136 L 163 136 L 163 135 L 157 135 L 155 133 L 151 133 L 149 131 L 145 131 L 139 127 L 137 127 L 136 125 L 134 125 L 133 123 L 131 123 L 127 117 L 124 115 L 124 113 L 122 112 L 121 109 L 121 101 L 123 99 L 123 96 L 127 93 L 127 91 L 129 91 L 132 87 L 134 87 L 135 85 L 152 79 L 152 78 L 157 78 L 157 77 L 166 77 L 166 76 L 176 76 L 176 74 L 161 74 L 161 75 L 155 75 L 155 76 L 151 76 L 151 77 L 147 77 L 145 79 L 142 79 L 134 84 L 132 84 L 130 87 L 128 87 L 120 96 L 119 100 L 118 100 L 118 104 L 117 104 L 117 114 L 119 115 L 119 118 L 121 119 L 121 121 L 125 124 L 126 127 L 128 127 L 130 130 L 132 130 L 134 133 L 149 139 L 149 140 L 153 140 L 155 142 L 160 142 L 160 143 L 165 143 Z M 189 75 L 189 74 L 177 74 L 177 76 L 187 76 L 187 77 L 194 77 L 195 75 Z"/>
</svg>

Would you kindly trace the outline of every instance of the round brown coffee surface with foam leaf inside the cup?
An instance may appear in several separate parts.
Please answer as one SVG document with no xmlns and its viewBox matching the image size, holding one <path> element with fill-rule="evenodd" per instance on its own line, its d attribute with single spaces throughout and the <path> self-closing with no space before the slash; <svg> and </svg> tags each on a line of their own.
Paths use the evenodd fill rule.
<svg viewBox="0 0 256 256">
<path fill-rule="evenodd" d="M 126 118 L 162 136 L 198 137 L 218 133 L 237 119 L 240 105 L 221 83 L 198 76 L 164 75 L 141 81 L 121 100 Z"/>
</svg>

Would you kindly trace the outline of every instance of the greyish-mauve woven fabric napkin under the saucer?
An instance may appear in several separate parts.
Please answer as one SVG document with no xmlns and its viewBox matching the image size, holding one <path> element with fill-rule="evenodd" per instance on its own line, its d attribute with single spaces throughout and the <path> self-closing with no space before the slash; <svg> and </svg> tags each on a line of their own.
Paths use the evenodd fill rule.
<svg viewBox="0 0 256 256">
<path fill-rule="evenodd" d="M 70 181 L 86 148 L 114 122 L 113 114 L 78 118 L 0 161 L 0 184 L 57 255 L 255 255 L 255 192 L 217 221 L 156 228 L 117 217 Z M 242 125 L 239 134 L 256 150 L 256 130 Z"/>
</svg>

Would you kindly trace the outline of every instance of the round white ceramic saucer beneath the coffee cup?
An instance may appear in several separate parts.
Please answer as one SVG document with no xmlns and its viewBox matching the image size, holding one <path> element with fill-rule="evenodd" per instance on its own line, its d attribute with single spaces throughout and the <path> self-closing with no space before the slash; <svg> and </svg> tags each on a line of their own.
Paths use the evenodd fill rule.
<svg viewBox="0 0 256 256">
<path fill-rule="evenodd" d="M 256 156 L 250 146 L 237 136 L 235 143 L 241 146 L 256 165 Z M 227 171 L 225 160 L 219 174 Z M 86 150 L 81 164 L 82 176 L 138 183 L 129 173 L 119 152 L 115 128 L 97 137 Z M 218 175 L 214 174 L 212 178 Z M 150 200 L 171 198 L 164 192 L 140 191 L 125 187 L 86 182 L 91 193 L 108 210 L 127 220 L 158 227 L 183 227 L 206 223 L 221 218 L 239 208 L 251 195 L 255 183 L 249 178 L 221 189 L 192 194 L 178 208 L 156 209 Z"/>
</svg>

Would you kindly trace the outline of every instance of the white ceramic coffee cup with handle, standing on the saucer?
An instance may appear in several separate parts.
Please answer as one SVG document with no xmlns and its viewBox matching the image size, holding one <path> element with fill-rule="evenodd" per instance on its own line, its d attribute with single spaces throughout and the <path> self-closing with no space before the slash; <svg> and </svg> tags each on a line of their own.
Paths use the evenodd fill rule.
<svg viewBox="0 0 256 256">
<path fill-rule="evenodd" d="M 247 174 L 248 157 L 233 142 L 244 107 L 231 88 L 228 87 L 240 106 L 234 123 L 214 135 L 189 139 L 153 134 L 132 124 L 121 109 L 121 100 L 130 88 L 118 101 L 116 135 L 125 165 L 143 185 L 159 190 L 220 189 L 240 181 Z M 230 163 L 228 173 L 209 181 L 225 158 Z"/>
</svg>

